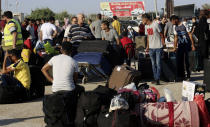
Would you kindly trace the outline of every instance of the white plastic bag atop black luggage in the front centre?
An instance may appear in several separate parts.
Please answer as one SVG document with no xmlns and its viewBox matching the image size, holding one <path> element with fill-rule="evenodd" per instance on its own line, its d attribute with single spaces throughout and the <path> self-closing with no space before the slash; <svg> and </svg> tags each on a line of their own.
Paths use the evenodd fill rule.
<svg viewBox="0 0 210 127">
<path fill-rule="evenodd" d="M 129 109 L 128 102 L 121 97 L 121 94 L 115 96 L 110 104 L 109 112 L 112 112 L 113 110 L 118 109 Z"/>
</svg>

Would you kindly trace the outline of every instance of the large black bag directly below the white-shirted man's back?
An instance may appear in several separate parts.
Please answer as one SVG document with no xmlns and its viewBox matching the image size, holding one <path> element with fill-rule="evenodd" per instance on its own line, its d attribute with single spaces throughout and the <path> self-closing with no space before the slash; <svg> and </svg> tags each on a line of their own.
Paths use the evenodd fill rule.
<svg viewBox="0 0 210 127">
<path fill-rule="evenodd" d="M 74 126 L 76 99 L 75 91 L 59 91 L 46 95 L 43 99 L 46 127 Z"/>
</svg>

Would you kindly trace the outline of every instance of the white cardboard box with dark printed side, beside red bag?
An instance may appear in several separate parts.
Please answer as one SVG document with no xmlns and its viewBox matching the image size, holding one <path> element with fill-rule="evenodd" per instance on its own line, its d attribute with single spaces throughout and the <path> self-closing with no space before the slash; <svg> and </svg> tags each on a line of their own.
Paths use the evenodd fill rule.
<svg viewBox="0 0 210 127">
<path fill-rule="evenodd" d="M 205 98 L 206 85 L 198 82 L 183 81 L 182 100 L 193 101 L 195 95 L 203 95 Z"/>
</svg>

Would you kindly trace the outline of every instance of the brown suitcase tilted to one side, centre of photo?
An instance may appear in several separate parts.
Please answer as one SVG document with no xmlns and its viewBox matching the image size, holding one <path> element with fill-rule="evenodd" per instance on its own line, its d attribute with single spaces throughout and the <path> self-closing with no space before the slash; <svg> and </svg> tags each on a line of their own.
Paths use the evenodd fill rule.
<svg viewBox="0 0 210 127">
<path fill-rule="evenodd" d="M 127 66 L 116 66 L 110 76 L 108 87 L 111 89 L 119 90 L 131 82 L 138 84 L 141 80 L 141 72 Z"/>
</svg>

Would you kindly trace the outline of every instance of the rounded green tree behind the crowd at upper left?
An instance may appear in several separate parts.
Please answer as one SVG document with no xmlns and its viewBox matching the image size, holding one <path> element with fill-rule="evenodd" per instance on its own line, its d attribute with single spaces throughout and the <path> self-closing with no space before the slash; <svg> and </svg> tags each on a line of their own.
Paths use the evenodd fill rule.
<svg viewBox="0 0 210 127">
<path fill-rule="evenodd" d="M 28 18 L 31 19 L 46 19 L 50 17 L 54 17 L 55 13 L 50 10 L 49 8 L 37 8 L 31 12 L 31 15 L 28 16 Z"/>
</svg>

